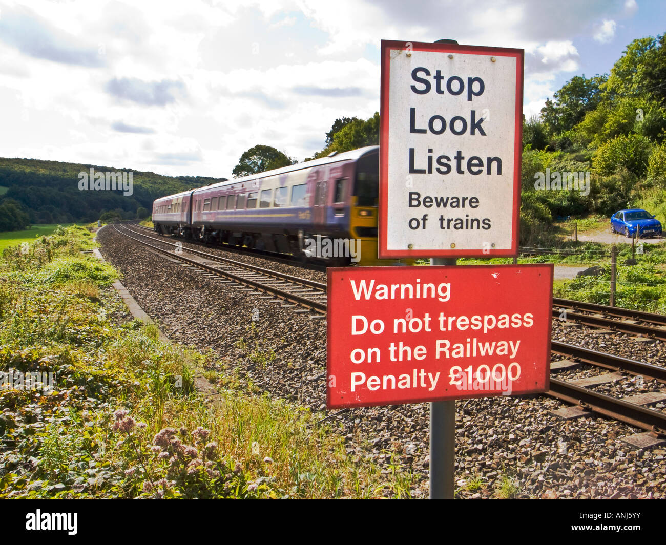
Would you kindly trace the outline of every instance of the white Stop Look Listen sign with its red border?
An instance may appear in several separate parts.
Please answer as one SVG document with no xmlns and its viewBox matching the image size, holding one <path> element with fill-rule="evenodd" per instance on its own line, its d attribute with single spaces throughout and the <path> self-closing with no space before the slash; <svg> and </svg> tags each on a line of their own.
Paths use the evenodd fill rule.
<svg viewBox="0 0 666 545">
<path fill-rule="evenodd" d="M 523 58 L 382 40 L 380 258 L 517 255 Z"/>
</svg>

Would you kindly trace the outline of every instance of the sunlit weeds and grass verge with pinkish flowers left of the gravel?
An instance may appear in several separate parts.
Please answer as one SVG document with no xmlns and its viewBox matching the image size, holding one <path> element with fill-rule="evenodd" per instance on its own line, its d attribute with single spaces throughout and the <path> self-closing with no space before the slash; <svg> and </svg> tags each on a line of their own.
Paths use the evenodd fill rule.
<svg viewBox="0 0 666 545">
<path fill-rule="evenodd" d="M 59 228 L 0 262 L 0 498 L 401 496 L 316 415 L 268 395 L 194 387 L 212 356 L 157 339 Z M 359 482 L 363 486 L 359 487 Z M 356 492 L 355 492 L 356 491 Z"/>
</svg>

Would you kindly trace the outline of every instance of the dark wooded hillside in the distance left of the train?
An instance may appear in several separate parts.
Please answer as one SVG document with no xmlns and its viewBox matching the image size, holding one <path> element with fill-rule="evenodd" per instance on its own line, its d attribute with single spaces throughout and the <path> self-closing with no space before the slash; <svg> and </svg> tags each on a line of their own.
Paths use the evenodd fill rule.
<svg viewBox="0 0 666 545">
<path fill-rule="evenodd" d="M 128 191 L 105 190 L 83 191 L 79 185 L 83 179 L 80 173 L 89 177 L 97 173 L 132 173 L 133 187 Z M 224 181 L 224 178 L 179 176 L 170 177 L 153 172 L 134 171 L 129 167 L 104 167 L 39 159 L 0 158 L 0 213 L 11 211 L 9 215 L 19 218 L 9 229 L 23 229 L 18 225 L 25 221 L 18 207 L 27 214 L 29 223 L 72 223 L 91 222 L 105 212 L 115 211 L 124 219 L 137 216 L 137 210 L 152 209 L 153 201 L 164 195 L 171 195 L 186 189 Z M 91 184 L 92 185 L 92 184 Z M 12 205 L 13 201 L 18 205 Z M 6 211 L 5 211 L 6 209 Z M 15 213 L 15 214 L 13 214 Z M 7 226 L 5 229 L 8 230 Z"/>
</svg>

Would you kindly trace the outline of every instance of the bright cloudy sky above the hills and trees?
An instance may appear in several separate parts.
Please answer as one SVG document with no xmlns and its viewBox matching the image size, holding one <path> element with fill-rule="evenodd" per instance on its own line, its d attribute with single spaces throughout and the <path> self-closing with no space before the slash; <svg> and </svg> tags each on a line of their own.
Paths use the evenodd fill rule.
<svg viewBox="0 0 666 545">
<path fill-rule="evenodd" d="M 523 113 L 666 30 L 663 0 L 0 0 L 0 157 L 230 177 L 380 109 L 380 41 L 525 50 Z"/>
</svg>

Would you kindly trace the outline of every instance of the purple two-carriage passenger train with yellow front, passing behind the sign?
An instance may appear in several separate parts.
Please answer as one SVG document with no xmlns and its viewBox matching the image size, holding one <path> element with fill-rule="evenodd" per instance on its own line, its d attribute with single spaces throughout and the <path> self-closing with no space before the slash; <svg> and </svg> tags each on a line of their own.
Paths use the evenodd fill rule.
<svg viewBox="0 0 666 545">
<path fill-rule="evenodd" d="M 379 147 L 368 146 L 162 197 L 153 225 L 302 262 L 396 265 L 378 259 L 378 196 Z"/>
</svg>

